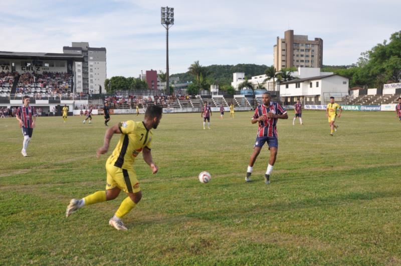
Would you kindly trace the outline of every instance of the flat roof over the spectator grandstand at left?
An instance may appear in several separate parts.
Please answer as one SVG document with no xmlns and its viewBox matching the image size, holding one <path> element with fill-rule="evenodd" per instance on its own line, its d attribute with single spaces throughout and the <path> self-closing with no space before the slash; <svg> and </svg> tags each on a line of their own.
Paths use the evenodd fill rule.
<svg viewBox="0 0 401 266">
<path fill-rule="evenodd" d="M 19 58 L 19 59 L 48 59 L 48 60 L 66 60 L 74 59 L 83 61 L 83 55 L 77 54 L 59 54 L 59 53 L 31 53 L 31 52 L 5 52 L 0 51 L 0 58 Z"/>
</svg>

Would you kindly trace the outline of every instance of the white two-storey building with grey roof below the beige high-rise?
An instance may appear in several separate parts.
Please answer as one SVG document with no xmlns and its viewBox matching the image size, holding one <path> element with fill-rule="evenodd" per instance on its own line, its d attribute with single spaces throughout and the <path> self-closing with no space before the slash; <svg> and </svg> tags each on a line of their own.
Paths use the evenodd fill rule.
<svg viewBox="0 0 401 266">
<path fill-rule="evenodd" d="M 292 76 L 298 79 L 280 83 L 280 98 L 285 105 L 292 105 L 298 99 L 304 104 L 324 105 L 331 96 L 341 103 L 348 97 L 349 80 L 346 77 L 320 72 L 319 68 L 298 68 Z"/>
</svg>

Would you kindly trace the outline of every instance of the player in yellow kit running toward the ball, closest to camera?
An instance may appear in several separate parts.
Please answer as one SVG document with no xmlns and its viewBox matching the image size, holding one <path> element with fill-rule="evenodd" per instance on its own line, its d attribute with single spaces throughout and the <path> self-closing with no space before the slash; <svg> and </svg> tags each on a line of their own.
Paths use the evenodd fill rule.
<svg viewBox="0 0 401 266">
<path fill-rule="evenodd" d="M 121 134 L 117 146 L 106 162 L 106 190 L 97 191 L 82 199 L 71 199 L 66 210 L 67 217 L 85 205 L 115 199 L 123 190 L 128 196 L 121 202 L 114 216 L 110 218 L 109 224 L 117 230 L 127 230 L 121 218 L 142 198 L 133 163 L 136 156 L 142 151 L 143 160 L 150 166 L 153 174 L 157 173 L 158 167 L 153 163 L 150 148 L 153 141 L 152 129 L 157 128 L 161 116 L 162 108 L 151 105 L 146 109 L 142 122 L 121 122 L 106 131 L 103 147 L 96 152 L 97 157 L 108 151 L 110 139 L 114 134 Z"/>
</svg>

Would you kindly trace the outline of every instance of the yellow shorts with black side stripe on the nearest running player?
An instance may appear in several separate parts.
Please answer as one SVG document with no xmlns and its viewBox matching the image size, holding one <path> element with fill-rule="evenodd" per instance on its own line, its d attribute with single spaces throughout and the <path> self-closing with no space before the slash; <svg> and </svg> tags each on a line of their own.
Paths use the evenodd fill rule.
<svg viewBox="0 0 401 266">
<path fill-rule="evenodd" d="M 118 187 L 125 193 L 136 193 L 141 191 L 134 170 L 122 169 L 114 166 L 114 164 L 106 163 L 106 172 L 106 190 Z"/>
</svg>

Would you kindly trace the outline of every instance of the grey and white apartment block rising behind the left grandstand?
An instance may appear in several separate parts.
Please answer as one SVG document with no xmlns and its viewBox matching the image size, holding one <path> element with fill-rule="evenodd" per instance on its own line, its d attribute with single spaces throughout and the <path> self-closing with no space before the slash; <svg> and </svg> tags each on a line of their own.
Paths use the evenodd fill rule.
<svg viewBox="0 0 401 266">
<path fill-rule="evenodd" d="M 82 55 L 84 58 L 82 63 L 75 62 L 75 88 L 78 93 L 106 93 L 106 48 L 89 47 L 86 42 L 73 42 L 71 47 L 63 47 L 63 53 Z"/>
</svg>

